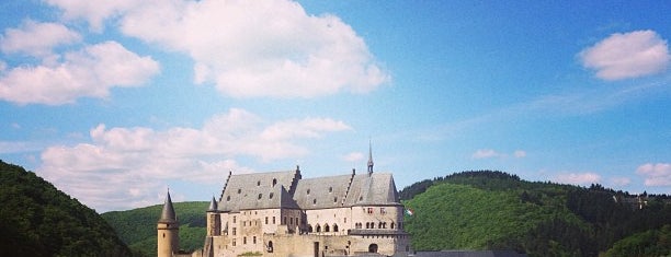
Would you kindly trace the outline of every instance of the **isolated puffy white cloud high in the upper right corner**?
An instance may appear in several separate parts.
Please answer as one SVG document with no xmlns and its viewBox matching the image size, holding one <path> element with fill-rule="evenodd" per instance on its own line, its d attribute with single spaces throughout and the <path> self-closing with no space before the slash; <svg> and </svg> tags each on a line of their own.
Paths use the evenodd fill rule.
<svg viewBox="0 0 671 257">
<path fill-rule="evenodd" d="M 671 61 L 667 40 L 653 31 L 615 33 L 578 55 L 603 80 L 637 78 L 663 71 Z"/>
</svg>

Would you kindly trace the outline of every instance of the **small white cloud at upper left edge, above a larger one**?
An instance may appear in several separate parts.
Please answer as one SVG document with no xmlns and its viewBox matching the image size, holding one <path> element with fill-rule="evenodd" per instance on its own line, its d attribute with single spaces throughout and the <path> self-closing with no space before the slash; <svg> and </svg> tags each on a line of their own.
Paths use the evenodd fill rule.
<svg viewBox="0 0 671 257">
<path fill-rule="evenodd" d="M 52 55 L 56 46 L 81 40 L 81 35 L 58 23 L 39 23 L 26 20 L 19 28 L 7 28 L 0 37 L 0 50 L 22 52 L 34 57 Z"/>
</svg>

